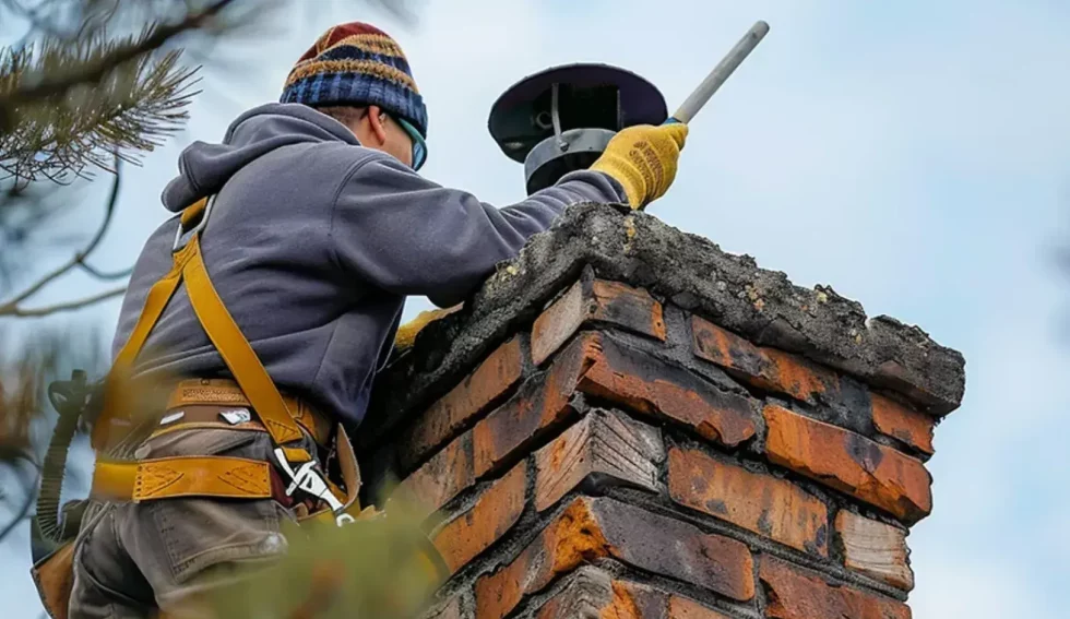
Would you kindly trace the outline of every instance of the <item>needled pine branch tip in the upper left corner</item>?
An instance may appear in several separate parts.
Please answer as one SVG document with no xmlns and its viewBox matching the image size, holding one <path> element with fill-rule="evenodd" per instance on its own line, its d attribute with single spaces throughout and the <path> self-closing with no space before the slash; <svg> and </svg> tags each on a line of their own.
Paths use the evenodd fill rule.
<svg viewBox="0 0 1070 619">
<path fill-rule="evenodd" d="M 87 40 L 44 40 L 0 50 L 0 170 L 17 183 L 63 182 L 88 166 L 110 170 L 115 156 L 132 160 L 181 128 L 195 69 L 179 63 L 179 51 L 143 55 L 115 64 L 95 83 L 19 103 L 27 82 L 48 75 L 74 80 L 118 50 L 152 35 Z M 13 103 L 12 103 L 13 102 Z"/>
</svg>

